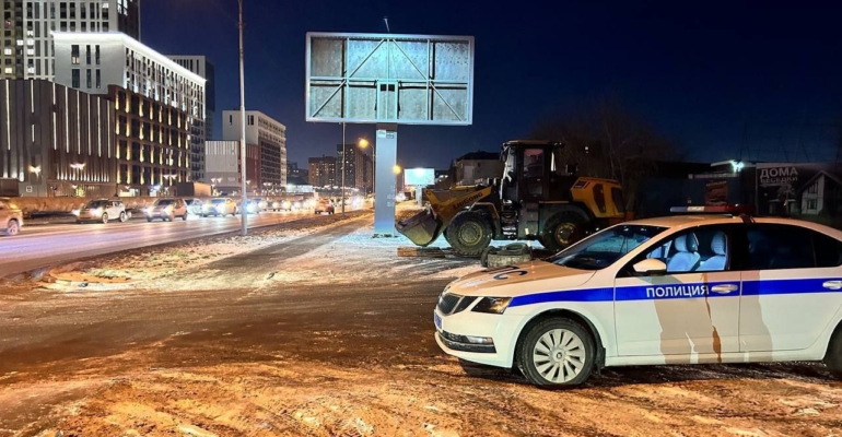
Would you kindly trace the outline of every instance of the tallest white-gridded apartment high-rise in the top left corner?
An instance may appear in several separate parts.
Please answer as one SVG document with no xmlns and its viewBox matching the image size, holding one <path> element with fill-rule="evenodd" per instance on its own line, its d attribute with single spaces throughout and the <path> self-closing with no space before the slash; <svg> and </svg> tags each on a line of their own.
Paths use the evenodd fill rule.
<svg viewBox="0 0 842 437">
<path fill-rule="evenodd" d="M 0 79 L 52 80 L 52 32 L 140 39 L 140 0 L 0 0 Z"/>
</svg>

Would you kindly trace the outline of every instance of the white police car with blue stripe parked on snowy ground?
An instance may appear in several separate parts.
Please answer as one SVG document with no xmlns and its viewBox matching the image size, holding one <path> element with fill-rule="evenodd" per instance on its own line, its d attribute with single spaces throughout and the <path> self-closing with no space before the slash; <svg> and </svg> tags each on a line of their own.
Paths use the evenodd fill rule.
<svg viewBox="0 0 842 437">
<path fill-rule="evenodd" d="M 548 261 L 447 285 L 434 315 L 438 345 L 517 366 L 539 386 L 629 365 L 823 359 L 842 375 L 837 229 L 668 216 L 606 228 Z"/>
</svg>

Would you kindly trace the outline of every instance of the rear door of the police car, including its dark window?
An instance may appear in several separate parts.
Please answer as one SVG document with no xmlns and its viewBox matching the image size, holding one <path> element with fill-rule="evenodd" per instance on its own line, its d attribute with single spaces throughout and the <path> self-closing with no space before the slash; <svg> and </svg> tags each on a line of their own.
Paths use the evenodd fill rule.
<svg viewBox="0 0 842 437">
<path fill-rule="evenodd" d="M 782 223 L 752 224 L 746 239 L 740 352 L 811 346 L 834 328 L 830 324 L 842 306 L 842 244 Z"/>
</svg>

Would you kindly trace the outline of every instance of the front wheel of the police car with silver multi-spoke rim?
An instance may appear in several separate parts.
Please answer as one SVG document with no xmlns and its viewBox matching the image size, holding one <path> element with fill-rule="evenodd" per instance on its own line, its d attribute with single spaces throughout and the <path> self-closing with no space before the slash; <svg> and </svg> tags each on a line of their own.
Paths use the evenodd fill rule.
<svg viewBox="0 0 842 437">
<path fill-rule="evenodd" d="M 517 365 L 536 386 L 573 387 L 590 376 L 594 339 L 581 324 L 553 318 L 534 324 L 521 342 Z"/>
</svg>

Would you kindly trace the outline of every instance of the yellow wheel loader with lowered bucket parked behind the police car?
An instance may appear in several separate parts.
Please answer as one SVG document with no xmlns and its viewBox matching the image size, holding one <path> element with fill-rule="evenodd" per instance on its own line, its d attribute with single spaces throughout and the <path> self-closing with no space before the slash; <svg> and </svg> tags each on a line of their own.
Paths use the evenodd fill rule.
<svg viewBox="0 0 842 437">
<path fill-rule="evenodd" d="M 503 175 L 488 184 L 425 189 L 430 205 L 396 224 L 418 246 L 444 233 L 455 252 L 477 256 L 492 240 L 539 240 L 560 251 L 587 234 L 625 217 L 616 180 L 576 176 L 561 165 L 563 145 L 519 140 L 503 144 Z"/>
</svg>

